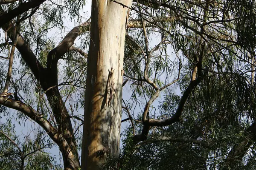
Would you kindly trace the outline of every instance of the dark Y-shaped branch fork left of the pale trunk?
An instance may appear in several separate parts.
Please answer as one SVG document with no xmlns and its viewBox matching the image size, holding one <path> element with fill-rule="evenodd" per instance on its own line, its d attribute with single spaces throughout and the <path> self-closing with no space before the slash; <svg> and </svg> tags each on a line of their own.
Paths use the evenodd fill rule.
<svg viewBox="0 0 256 170">
<path fill-rule="evenodd" d="M 32 2 L 33 0 L 29 1 Z M 38 1 L 41 2 L 41 1 Z M 42 1 L 43 2 L 43 1 Z M 20 8 L 20 7 L 18 7 Z M 1 13 L 3 13 L 3 10 L 0 8 Z M 11 11 L 10 11 L 11 12 Z M 9 14 L 9 13 L 7 13 Z M 20 14 L 20 13 L 19 13 Z M 3 18 L 6 14 L 2 15 L 0 17 Z M 14 16 L 16 17 L 16 16 Z M 11 20 L 11 19 L 10 19 Z M 38 61 L 36 58 L 35 54 L 32 52 L 31 48 L 27 44 L 27 42 L 23 39 L 23 37 L 20 35 L 20 33 L 15 29 L 15 26 L 13 23 L 10 23 L 11 25 L 8 26 L 7 24 L 2 24 L 1 27 L 6 30 L 7 34 L 11 38 L 13 42 L 15 41 L 15 37 L 17 38 L 17 44 L 16 48 L 20 52 L 21 56 L 31 69 L 33 75 L 35 78 L 40 82 L 41 87 L 44 89 L 45 94 L 47 95 L 48 101 L 52 107 L 52 111 L 54 113 L 56 122 L 59 125 L 59 130 L 58 132 L 63 133 L 63 137 L 61 133 L 58 133 L 58 138 L 55 136 L 50 136 L 51 139 L 56 142 L 61 148 L 61 151 L 63 152 L 64 155 L 78 155 L 78 151 L 76 148 L 72 149 L 71 152 L 71 146 L 76 146 L 76 141 L 73 136 L 73 127 L 71 124 L 70 116 L 67 112 L 67 108 L 64 105 L 64 102 L 62 100 L 61 94 L 58 91 L 58 73 L 57 73 L 57 63 L 58 59 L 60 59 L 67 51 L 69 50 L 77 50 L 79 53 L 84 54 L 83 51 L 74 48 L 72 45 L 74 44 L 74 41 L 76 38 L 84 31 L 89 31 L 90 28 L 90 23 L 89 22 L 84 22 L 79 26 L 76 26 L 73 28 L 61 41 L 61 43 L 54 48 L 52 51 L 49 51 L 49 54 L 47 56 L 47 68 L 44 68 L 41 63 Z M 85 56 L 85 54 L 84 54 Z M 53 88 L 51 88 L 53 87 Z M 1 96 L 3 98 L 5 96 Z M 9 99 L 6 96 L 7 99 Z M 9 102 L 12 102 L 15 104 L 16 102 L 10 101 L 11 99 L 7 100 Z M 19 101 L 20 102 L 20 101 Z M 10 108 L 12 108 L 10 106 Z M 20 108 L 14 108 L 16 110 L 19 110 Z M 32 112 L 34 113 L 34 112 Z M 34 113 L 34 115 L 36 115 Z M 30 115 L 30 117 L 35 117 L 33 115 Z M 44 128 L 44 124 L 42 122 L 37 121 L 39 125 L 41 125 Z M 55 130 L 56 132 L 56 130 Z M 71 155 L 70 155 L 71 153 Z M 65 156 L 67 158 L 67 156 Z M 72 160 L 72 159 L 70 159 Z M 64 161 L 69 161 L 69 159 L 64 160 Z M 79 161 L 75 162 L 75 164 L 79 164 Z M 80 165 L 79 165 L 80 166 Z"/>
</svg>

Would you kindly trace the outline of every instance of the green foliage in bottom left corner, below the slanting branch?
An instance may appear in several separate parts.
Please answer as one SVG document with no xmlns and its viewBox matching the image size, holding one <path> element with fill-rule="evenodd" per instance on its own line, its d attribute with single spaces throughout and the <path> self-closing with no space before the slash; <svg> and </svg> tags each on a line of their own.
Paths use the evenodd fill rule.
<svg viewBox="0 0 256 170">
<path fill-rule="evenodd" d="M 29 136 L 25 136 L 22 140 L 19 136 L 15 135 L 13 126 L 9 124 L 1 124 L 0 130 L 8 132 L 6 135 L 0 133 L 0 169 L 13 170 L 14 167 L 21 166 L 20 150 L 24 156 L 24 170 L 50 170 L 56 169 L 61 170 L 61 165 L 52 157 L 46 148 L 51 148 L 52 144 L 45 140 L 44 133 L 37 133 L 36 139 L 32 140 Z M 17 146 L 16 146 L 17 144 Z"/>
</svg>

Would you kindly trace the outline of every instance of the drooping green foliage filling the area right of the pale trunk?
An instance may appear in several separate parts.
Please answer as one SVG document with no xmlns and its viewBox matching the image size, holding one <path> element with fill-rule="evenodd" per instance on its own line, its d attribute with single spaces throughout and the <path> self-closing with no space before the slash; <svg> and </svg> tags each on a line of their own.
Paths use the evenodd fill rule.
<svg viewBox="0 0 256 170">
<path fill-rule="evenodd" d="M 161 99 L 157 111 L 154 111 L 153 107 L 150 110 L 149 119 L 168 119 L 175 115 L 180 99 L 191 81 L 191 71 L 197 65 L 197 57 L 202 59 L 202 68 L 198 69 L 202 69 L 201 75 L 204 75 L 204 78 L 190 94 L 179 117 L 179 122 L 166 127 L 152 127 L 153 130 L 149 131 L 148 140 L 141 143 L 131 144 L 129 140 L 123 141 L 125 143 L 123 149 L 128 148 L 131 153 L 125 157 L 126 161 L 122 162 L 123 169 L 222 169 L 226 168 L 225 160 L 230 150 L 237 147 L 241 140 L 248 138 L 244 130 L 255 122 L 256 116 L 256 91 L 253 76 L 255 65 L 251 65 L 252 59 L 255 58 L 253 53 L 256 35 L 253 18 L 256 16 L 254 14 L 255 2 L 207 1 L 209 2 L 207 12 L 203 7 L 207 3 L 200 4 L 200 2 L 168 1 L 166 4 L 170 5 L 170 11 L 166 9 L 165 12 L 166 16 L 173 17 L 173 22 L 163 23 L 157 23 L 155 19 L 163 16 L 161 15 L 163 11 L 149 10 L 147 7 L 140 6 L 140 10 L 145 12 L 143 13 L 145 15 L 142 14 L 144 20 L 154 20 L 155 25 L 163 24 L 161 25 L 163 27 L 157 25 L 150 31 L 159 31 L 160 36 L 164 34 L 171 42 L 176 55 L 182 60 L 180 81 L 166 89 L 165 97 Z M 181 14 L 181 20 L 175 18 L 175 12 Z M 224 20 L 226 21 L 223 22 Z M 205 23 L 204 27 L 199 23 L 201 25 Z M 172 32 L 163 29 L 166 27 Z M 201 35 L 202 28 L 204 28 L 204 33 Z M 150 32 L 148 29 L 147 31 Z M 141 35 L 141 33 L 138 34 Z M 137 35 L 137 32 L 133 32 L 133 35 Z M 158 54 L 161 54 L 161 50 Z M 142 53 L 140 56 L 143 58 Z M 158 81 L 163 80 L 163 77 L 170 81 L 168 73 L 177 75 L 177 62 L 171 65 L 162 60 L 160 56 L 152 55 L 149 72 L 155 71 L 157 75 L 160 75 L 158 70 L 164 70 L 165 76 L 158 76 Z M 168 66 L 161 65 L 157 68 L 157 61 L 168 63 Z M 143 68 L 141 65 L 137 73 L 133 72 L 130 77 L 143 75 Z M 197 77 L 200 76 L 199 71 Z M 154 79 L 153 74 L 151 74 L 151 79 Z M 163 84 L 165 83 L 157 85 Z M 137 84 L 135 88 L 138 88 Z M 141 91 L 134 90 L 136 105 L 145 95 L 144 99 L 148 101 L 154 94 L 154 90 L 147 83 L 142 86 L 142 89 Z M 133 108 L 136 105 L 130 107 Z M 141 111 L 143 111 L 143 104 Z M 141 132 L 141 127 L 135 126 L 135 128 L 140 129 L 136 131 L 137 133 Z M 124 133 L 124 138 L 130 133 L 131 131 Z M 173 140 L 158 140 L 163 136 Z M 189 139 L 196 139 L 209 145 L 205 147 L 192 141 L 188 142 Z M 243 159 L 237 156 L 234 158 L 237 159 L 236 163 L 233 163 L 234 167 L 229 168 L 239 170 L 255 168 L 252 163 L 255 163 L 253 159 L 255 142 L 251 140 L 253 139 L 249 139 L 253 144 L 244 153 Z M 127 153 L 122 153 L 123 156 L 125 154 Z"/>
</svg>

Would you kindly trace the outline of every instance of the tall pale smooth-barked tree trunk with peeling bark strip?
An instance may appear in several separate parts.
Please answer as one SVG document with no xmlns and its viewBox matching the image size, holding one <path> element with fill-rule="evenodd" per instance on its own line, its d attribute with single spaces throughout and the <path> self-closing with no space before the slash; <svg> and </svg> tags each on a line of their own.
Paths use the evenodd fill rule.
<svg viewBox="0 0 256 170">
<path fill-rule="evenodd" d="M 92 0 L 82 170 L 119 156 L 125 23 L 132 0 Z M 123 5 L 125 6 L 123 6 Z"/>
</svg>

